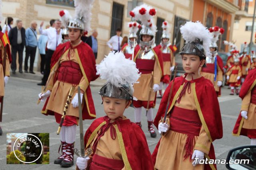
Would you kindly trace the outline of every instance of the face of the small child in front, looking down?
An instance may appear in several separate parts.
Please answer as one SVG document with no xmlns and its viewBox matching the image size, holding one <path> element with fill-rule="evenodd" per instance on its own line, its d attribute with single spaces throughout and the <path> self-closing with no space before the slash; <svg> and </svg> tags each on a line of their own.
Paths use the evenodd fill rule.
<svg viewBox="0 0 256 170">
<path fill-rule="evenodd" d="M 110 119 L 123 117 L 124 109 L 128 108 L 131 103 L 131 100 L 103 97 L 104 111 Z"/>
</svg>

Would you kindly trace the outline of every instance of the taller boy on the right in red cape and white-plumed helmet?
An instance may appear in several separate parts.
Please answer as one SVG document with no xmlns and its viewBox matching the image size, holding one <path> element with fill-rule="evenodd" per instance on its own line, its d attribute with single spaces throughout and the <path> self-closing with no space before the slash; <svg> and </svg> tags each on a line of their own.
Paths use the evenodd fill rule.
<svg viewBox="0 0 256 170">
<path fill-rule="evenodd" d="M 215 164 L 199 164 L 204 158 L 215 159 L 212 142 L 222 138 L 222 120 L 214 86 L 199 74 L 209 55 L 210 34 L 199 21 L 188 21 L 180 31 L 186 40 L 180 52 L 186 73 L 170 82 L 154 120 L 159 133 L 163 133 L 152 154 L 154 168 L 216 169 Z M 164 122 L 161 117 L 168 121 Z"/>
</svg>

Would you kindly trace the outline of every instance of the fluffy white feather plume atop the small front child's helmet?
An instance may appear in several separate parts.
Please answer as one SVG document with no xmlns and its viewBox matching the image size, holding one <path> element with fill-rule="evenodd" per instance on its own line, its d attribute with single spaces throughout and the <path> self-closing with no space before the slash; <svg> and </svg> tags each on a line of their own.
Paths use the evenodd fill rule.
<svg viewBox="0 0 256 170">
<path fill-rule="evenodd" d="M 100 64 L 96 64 L 96 69 L 97 75 L 100 75 L 101 79 L 107 80 L 116 87 L 120 87 L 126 82 L 136 83 L 140 77 L 136 63 L 126 59 L 122 52 L 111 51 Z"/>
</svg>

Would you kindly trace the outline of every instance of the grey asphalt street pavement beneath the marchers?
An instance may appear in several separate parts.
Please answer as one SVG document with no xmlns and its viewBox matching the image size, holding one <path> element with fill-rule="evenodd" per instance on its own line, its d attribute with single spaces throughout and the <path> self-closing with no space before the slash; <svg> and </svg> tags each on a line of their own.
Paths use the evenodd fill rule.
<svg viewBox="0 0 256 170">
<path fill-rule="evenodd" d="M 39 105 L 36 104 L 38 94 L 41 92 L 41 86 L 36 85 L 38 82 L 39 81 L 37 79 L 30 80 L 17 77 L 10 77 L 9 79 L 6 86 L 6 94 L 4 96 L 3 121 L 0 123 L 3 129 L 3 135 L 0 136 L 0 170 L 18 170 L 20 168 L 26 170 L 63 170 L 63 168 L 60 168 L 59 165 L 53 163 L 54 159 L 59 156 L 58 148 L 60 146 L 60 137 L 56 134 L 58 124 L 55 122 L 53 116 L 46 116 L 40 113 L 43 103 L 40 103 Z M 104 82 L 102 80 L 96 80 L 96 82 L 92 82 L 91 87 L 97 117 L 102 117 L 105 115 L 103 106 L 101 105 L 102 99 L 98 94 L 100 86 L 103 83 Z M 250 139 L 247 137 L 232 136 L 232 129 L 240 110 L 241 99 L 236 95 L 230 96 L 229 93 L 230 90 L 227 89 L 227 86 L 225 86 L 222 88 L 222 97 L 218 98 L 222 113 L 224 137 L 214 141 L 213 144 L 216 158 L 220 159 L 225 159 L 228 151 L 233 147 L 250 144 Z M 160 99 L 157 99 L 154 114 L 156 114 L 159 104 Z M 126 109 L 125 116 L 131 121 L 134 121 L 134 108 L 130 107 Z M 93 120 L 83 121 L 84 132 L 90 126 L 92 121 Z M 151 152 L 153 152 L 160 139 L 160 135 L 158 134 L 156 138 L 150 137 L 145 110 L 142 116 L 142 129 L 146 135 L 149 149 Z M 50 164 L 7 165 L 6 133 L 50 133 Z M 79 146 L 79 128 L 77 127 L 75 147 Z M 76 161 L 77 156 L 74 156 L 74 158 Z M 218 170 L 226 170 L 225 165 L 217 165 L 217 168 Z M 65 169 L 75 169 L 75 166 Z"/>
</svg>

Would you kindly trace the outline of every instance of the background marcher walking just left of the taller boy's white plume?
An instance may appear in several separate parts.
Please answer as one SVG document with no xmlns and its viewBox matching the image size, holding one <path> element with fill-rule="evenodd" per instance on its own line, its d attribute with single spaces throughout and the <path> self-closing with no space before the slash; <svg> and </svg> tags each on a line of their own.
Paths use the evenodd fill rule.
<svg viewBox="0 0 256 170">
<path fill-rule="evenodd" d="M 174 52 L 177 50 L 177 47 L 175 45 L 171 45 L 169 42 L 170 40 L 170 30 L 169 30 L 169 23 L 167 21 L 164 21 L 162 23 L 162 41 L 158 45 L 160 50 L 162 51 L 163 61 L 164 61 L 164 76 L 161 78 L 160 82 L 160 90 L 159 95 L 157 98 L 162 98 L 162 88 L 164 85 L 164 90 L 170 83 L 170 75 L 172 74 L 172 71 L 174 70 L 175 66 L 175 56 Z"/>
</svg>

